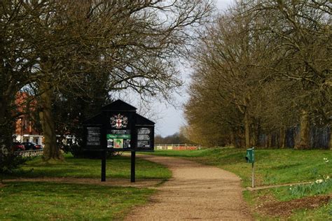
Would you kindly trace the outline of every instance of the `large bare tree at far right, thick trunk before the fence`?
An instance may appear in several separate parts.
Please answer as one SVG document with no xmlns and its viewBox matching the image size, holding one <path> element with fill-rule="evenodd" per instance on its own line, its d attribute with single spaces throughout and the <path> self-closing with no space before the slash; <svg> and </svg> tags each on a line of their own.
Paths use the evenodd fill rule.
<svg viewBox="0 0 332 221">
<path fill-rule="evenodd" d="M 248 14 L 266 18 L 256 34 L 275 42 L 274 58 L 265 68 L 273 78 L 302 86 L 296 148 L 310 146 L 310 118 L 331 124 L 331 6 L 330 1 L 248 1 Z"/>
</svg>

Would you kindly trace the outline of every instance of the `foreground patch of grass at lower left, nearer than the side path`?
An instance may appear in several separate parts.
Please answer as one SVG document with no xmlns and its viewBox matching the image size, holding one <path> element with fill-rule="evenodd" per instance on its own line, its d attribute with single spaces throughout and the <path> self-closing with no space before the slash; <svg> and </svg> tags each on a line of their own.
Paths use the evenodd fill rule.
<svg viewBox="0 0 332 221">
<path fill-rule="evenodd" d="M 119 220 L 155 190 L 61 183 L 0 187 L 0 220 Z"/>
</svg>

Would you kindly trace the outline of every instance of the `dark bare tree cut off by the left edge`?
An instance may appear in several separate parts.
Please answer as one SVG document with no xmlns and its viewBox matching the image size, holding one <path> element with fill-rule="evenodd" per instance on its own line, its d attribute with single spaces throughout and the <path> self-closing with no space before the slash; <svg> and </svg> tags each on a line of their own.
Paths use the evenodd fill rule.
<svg viewBox="0 0 332 221">
<path fill-rule="evenodd" d="M 11 147 L 15 119 L 21 114 L 15 107 L 15 94 L 32 78 L 39 55 L 27 43 L 35 14 L 48 7 L 48 1 L 0 2 L 0 154 Z"/>
</svg>

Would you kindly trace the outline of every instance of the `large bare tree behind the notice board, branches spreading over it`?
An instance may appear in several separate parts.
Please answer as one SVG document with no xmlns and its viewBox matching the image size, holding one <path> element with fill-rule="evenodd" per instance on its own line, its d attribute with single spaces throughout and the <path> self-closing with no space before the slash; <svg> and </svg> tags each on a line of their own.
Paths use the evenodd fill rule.
<svg viewBox="0 0 332 221">
<path fill-rule="evenodd" d="M 34 56 L 27 73 L 20 71 L 25 81 L 14 80 L 22 86 L 29 84 L 40 94 L 46 160 L 62 158 L 52 115 L 56 93 L 77 87 L 82 90 L 75 92 L 82 94 L 87 75 L 100 75 L 106 76 L 109 92 L 132 88 L 140 94 L 167 98 L 169 90 L 181 84 L 175 64 L 186 55 L 193 37 L 191 27 L 206 22 L 211 10 L 211 2 L 201 0 L 14 2 L 18 7 L 6 1 L 8 11 L 4 13 L 20 12 L 29 18 L 18 25 L 25 30 L 18 31 L 17 37 L 24 46 L 15 48 Z M 11 38 L 13 32 L 8 33 L 5 37 Z M 30 57 L 20 55 L 19 59 L 27 63 Z"/>
</svg>

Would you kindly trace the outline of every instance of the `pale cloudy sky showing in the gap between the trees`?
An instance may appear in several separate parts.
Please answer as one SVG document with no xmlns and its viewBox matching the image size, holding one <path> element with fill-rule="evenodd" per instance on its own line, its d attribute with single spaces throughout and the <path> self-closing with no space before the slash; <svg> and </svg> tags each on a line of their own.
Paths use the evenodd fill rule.
<svg viewBox="0 0 332 221">
<path fill-rule="evenodd" d="M 216 7 L 218 10 L 226 10 L 228 6 L 235 0 L 216 0 Z M 185 76 L 189 76 L 190 69 L 183 69 Z M 165 104 L 154 104 L 154 109 L 158 111 L 158 117 L 160 119 L 155 120 L 155 134 L 160 134 L 161 136 L 168 136 L 179 131 L 179 128 L 186 123 L 184 120 L 184 113 L 182 110 L 183 104 L 188 99 L 188 94 L 186 94 L 186 87 L 190 83 L 189 78 L 185 78 L 186 85 L 181 89 L 181 96 L 176 95 L 177 108 L 173 106 L 165 106 Z"/>
</svg>

